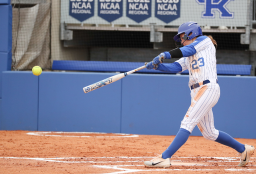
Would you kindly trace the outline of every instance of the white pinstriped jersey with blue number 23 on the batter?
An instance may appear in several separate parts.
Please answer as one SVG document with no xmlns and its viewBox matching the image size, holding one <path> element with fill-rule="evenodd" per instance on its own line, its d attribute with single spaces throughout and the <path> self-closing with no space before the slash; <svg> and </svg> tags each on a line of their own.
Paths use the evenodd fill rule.
<svg viewBox="0 0 256 174">
<path fill-rule="evenodd" d="M 217 79 L 216 49 L 211 39 L 207 36 L 199 36 L 190 44 L 193 45 L 196 53 L 176 61 L 181 65 L 182 71 L 188 69 L 189 87 L 206 79 Z"/>
</svg>

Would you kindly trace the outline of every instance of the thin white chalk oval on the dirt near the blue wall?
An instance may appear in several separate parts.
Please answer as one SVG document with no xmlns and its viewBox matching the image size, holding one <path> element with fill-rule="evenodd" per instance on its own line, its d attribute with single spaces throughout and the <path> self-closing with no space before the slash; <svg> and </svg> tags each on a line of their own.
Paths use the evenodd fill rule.
<svg viewBox="0 0 256 174">
<path fill-rule="evenodd" d="M 64 137 L 138 137 L 137 134 L 126 134 L 126 133 L 113 133 L 121 136 L 76 136 L 76 135 L 54 135 L 47 133 L 95 133 L 95 134 L 106 134 L 105 132 L 85 132 L 85 131 L 42 131 L 42 132 L 27 132 L 29 135 L 37 135 L 37 136 L 64 136 Z"/>
</svg>

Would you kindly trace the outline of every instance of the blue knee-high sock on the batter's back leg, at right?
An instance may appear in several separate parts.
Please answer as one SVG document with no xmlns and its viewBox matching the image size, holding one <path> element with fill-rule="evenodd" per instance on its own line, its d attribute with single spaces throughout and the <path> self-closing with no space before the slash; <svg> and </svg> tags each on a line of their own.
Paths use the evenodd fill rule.
<svg viewBox="0 0 256 174">
<path fill-rule="evenodd" d="M 224 144 L 226 146 L 229 146 L 239 153 L 243 152 L 245 150 L 244 144 L 238 142 L 234 138 L 232 138 L 229 134 L 219 131 L 218 137 L 215 140 L 218 143 Z"/>
</svg>

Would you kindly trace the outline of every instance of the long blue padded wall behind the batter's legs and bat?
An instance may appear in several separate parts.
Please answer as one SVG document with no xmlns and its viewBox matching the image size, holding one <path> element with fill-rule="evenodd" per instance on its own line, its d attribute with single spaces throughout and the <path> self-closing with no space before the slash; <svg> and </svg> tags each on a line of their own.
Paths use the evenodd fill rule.
<svg viewBox="0 0 256 174">
<path fill-rule="evenodd" d="M 95 131 L 175 135 L 190 105 L 188 75 L 130 74 L 84 93 L 116 73 L 2 72 L 1 130 Z M 256 77 L 218 76 L 215 128 L 256 138 Z M 197 127 L 191 135 L 201 135 Z"/>
</svg>

